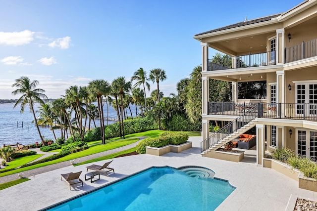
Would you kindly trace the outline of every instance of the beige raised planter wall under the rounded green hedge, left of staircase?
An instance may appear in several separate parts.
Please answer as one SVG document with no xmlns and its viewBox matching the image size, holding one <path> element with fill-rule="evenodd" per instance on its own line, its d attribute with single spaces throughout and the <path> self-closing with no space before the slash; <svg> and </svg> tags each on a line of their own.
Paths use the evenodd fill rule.
<svg viewBox="0 0 317 211">
<path fill-rule="evenodd" d="M 149 155 L 156 155 L 156 156 L 161 156 L 169 152 L 175 152 L 175 153 L 180 153 L 184 150 L 192 148 L 193 143 L 191 141 L 188 141 L 186 143 L 180 144 L 180 145 L 166 145 L 163 147 L 150 147 L 147 146 L 146 148 L 146 153 Z"/>
</svg>

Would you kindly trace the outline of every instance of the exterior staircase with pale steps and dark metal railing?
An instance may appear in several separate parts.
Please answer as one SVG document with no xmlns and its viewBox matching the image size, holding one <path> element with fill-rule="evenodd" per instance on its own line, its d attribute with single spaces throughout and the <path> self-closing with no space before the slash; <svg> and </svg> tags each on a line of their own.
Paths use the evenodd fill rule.
<svg viewBox="0 0 317 211">
<path fill-rule="evenodd" d="M 219 149 L 226 143 L 238 138 L 239 135 L 245 133 L 252 127 L 255 127 L 257 117 L 259 117 L 258 104 L 252 108 L 249 108 L 247 112 L 202 141 L 202 156 L 211 157 L 210 154 L 212 154 L 215 150 Z"/>
</svg>

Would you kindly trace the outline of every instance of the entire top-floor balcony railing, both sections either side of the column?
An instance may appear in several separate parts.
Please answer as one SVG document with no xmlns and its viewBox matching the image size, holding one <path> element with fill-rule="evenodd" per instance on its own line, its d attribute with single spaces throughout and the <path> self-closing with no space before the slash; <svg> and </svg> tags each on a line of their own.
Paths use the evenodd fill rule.
<svg viewBox="0 0 317 211">
<path fill-rule="evenodd" d="M 284 49 L 284 63 L 317 56 L 317 39 Z M 249 53 L 240 56 L 214 56 L 208 60 L 208 71 L 276 65 L 276 52 Z"/>
</svg>

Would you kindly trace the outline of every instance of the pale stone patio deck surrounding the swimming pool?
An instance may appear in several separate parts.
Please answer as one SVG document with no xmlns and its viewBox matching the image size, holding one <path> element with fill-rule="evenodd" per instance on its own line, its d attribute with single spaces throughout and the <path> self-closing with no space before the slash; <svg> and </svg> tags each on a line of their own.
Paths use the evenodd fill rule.
<svg viewBox="0 0 317 211">
<path fill-rule="evenodd" d="M 110 167 L 115 174 L 90 183 L 84 181 L 86 166 L 65 167 L 30 177 L 31 180 L 0 191 L 0 210 L 35 211 L 100 187 L 109 182 L 152 166 L 182 167 L 188 165 L 213 169 L 216 177 L 229 180 L 236 190 L 216 209 L 216 211 L 283 211 L 292 195 L 317 201 L 317 193 L 298 188 L 298 182 L 272 169 L 247 163 L 234 163 L 205 158 L 200 155 L 202 137 L 190 137 L 193 148 L 183 153 L 168 153 L 164 156 L 135 155 L 113 159 Z M 105 161 L 96 162 L 102 165 Z M 70 191 L 66 182 L 60 180 L 61 173 L 82 170 L 80 178 L 84 187 L 76 186 Z"/>
</svg>

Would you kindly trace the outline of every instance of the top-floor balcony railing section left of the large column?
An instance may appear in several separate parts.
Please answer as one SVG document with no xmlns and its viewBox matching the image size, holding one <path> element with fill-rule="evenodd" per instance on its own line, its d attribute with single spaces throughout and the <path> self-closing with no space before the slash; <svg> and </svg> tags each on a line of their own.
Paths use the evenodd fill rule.
<svg viewBox="0 0 317 211">
<path fill-rule="evenodd" d="M 224 55 L 208 60 L 208 71 L 275 65 L 275 51 L 241 56 Z"/>
</svg>

